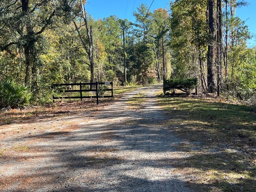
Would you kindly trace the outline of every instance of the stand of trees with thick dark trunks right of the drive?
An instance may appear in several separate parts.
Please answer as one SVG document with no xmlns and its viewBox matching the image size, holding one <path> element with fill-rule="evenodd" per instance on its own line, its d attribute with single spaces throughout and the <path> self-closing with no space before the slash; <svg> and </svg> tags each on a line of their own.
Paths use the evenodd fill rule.
<svg viewBox="0 0 256 192">
<path fill-rule="evenodd" d="M 244 0 L 171 3 L 170 47 L 174 76 L 192 76 L 206 92 L 250 99 L 256 91 L 256 49 L 236 9 Z M 254 98 L 255 99 L 255 98 Z"/>
</svg>

